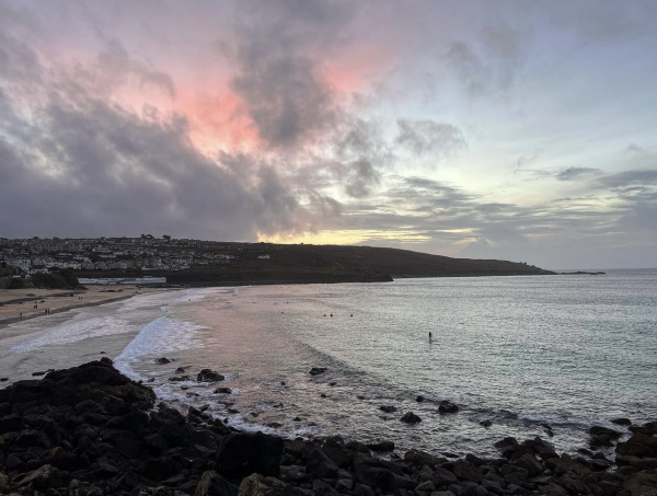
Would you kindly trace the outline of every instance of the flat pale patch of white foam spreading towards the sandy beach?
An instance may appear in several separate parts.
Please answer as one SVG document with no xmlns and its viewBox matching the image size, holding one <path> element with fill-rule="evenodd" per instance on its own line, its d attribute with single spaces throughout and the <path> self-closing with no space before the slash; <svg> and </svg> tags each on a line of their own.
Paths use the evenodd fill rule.
<svg viewBox="0 0 657 496">
<path fill-rule="evenodd" d="M 113 315 L 96 316 L 79 321 L 67 321 L 45 331 L 41 336 L 24 341 L 11 348 L 13 353 L 33 351 L 44 346 L 77 343 L 91 337 L 110 336 L 135 332 L 127 321 Z"/>
</svg>

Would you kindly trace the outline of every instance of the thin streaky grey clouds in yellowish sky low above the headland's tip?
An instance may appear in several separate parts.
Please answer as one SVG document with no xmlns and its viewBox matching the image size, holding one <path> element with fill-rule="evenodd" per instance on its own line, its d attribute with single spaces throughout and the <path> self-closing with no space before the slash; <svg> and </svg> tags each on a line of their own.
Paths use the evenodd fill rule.
<svg viewBox="0 0 657 496">
<path fill-rule="evenodd" d="M 565 252 L 560 247 L 563 240 L 568 240 L 570 246 L 579 242 L 590 250 L 599 249 L 604 239 L 613 244 L 610 231 L 641 232 L 638 222 L 653 211 L 648 207 L 637 210 L 631 206 L 603 211 L 581 208 L 583 200 L 578 198 L 562 199 L 558 205 L 521 207 L 486 203 L 458 187 L 425 177 L 388 177 L 388 182 L 390 187 L 380 194 L 377 204 L 365 208 L 368 206 L 365 203 L 357 211 L 347 210 L 345 218 L 369 229 L 395 232 L 399 240 L 373 238 L 364 244 L 415 245 L 431 251 L 470 239 L 470 246 L 461 256 L 545 265 L 556 259 L 551 251 L 560 251 L 563 258 Z"/>
</svg>

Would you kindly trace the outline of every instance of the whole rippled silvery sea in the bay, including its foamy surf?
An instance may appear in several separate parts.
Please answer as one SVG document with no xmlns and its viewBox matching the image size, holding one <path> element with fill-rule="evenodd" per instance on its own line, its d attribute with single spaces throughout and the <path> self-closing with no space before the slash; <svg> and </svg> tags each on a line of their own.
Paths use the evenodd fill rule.
<svg viewBox="0 0 657 496">
<path fill-rule="evenodd" d="M 657 269 L 180 289 L 49 319 L 0 330 L 0 376 L 108 356 L 183 412 L 288 438 L 493 457 L 507 436 L 575 452 L 591 425 L 657 419 Z"/>
</svg>

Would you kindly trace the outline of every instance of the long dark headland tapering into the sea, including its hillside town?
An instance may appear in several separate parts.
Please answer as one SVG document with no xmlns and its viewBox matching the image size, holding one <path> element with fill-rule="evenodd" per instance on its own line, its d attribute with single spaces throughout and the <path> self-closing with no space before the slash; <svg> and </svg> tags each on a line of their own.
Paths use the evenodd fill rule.
<svg viewBox="0 0 657 496">
<path fill-rule="evenodd" d="M 150 234 L 0 239 L 0 279 L 4 276 L 5 282 L 16 275 L 38 280 L 43 278 L 39 274 L 64 272 L 67 277 L 77 278 L 165 277 L 168 285 L 176 286 L 381 282 L 406 277 L 556 274 L 527 263 L 452 258 L 390 247 L 235 243 Z"/>
</svg>

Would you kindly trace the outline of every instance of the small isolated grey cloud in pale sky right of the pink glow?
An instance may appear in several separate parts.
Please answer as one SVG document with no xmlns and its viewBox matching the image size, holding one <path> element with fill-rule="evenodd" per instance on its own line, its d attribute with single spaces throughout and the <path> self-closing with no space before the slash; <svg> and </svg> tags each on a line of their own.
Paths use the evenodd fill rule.
<svg viewBox="0 0 657 496">
<path fill-rule="evenodd" d="M 418 155 L 430 153 L 442 158 L 468 148 L 461 130 L 451 124 L 439 124 L 428 119 L 399 119 L 397 127 L 395 143 Z"/>
</svg>

